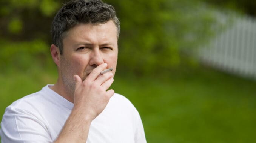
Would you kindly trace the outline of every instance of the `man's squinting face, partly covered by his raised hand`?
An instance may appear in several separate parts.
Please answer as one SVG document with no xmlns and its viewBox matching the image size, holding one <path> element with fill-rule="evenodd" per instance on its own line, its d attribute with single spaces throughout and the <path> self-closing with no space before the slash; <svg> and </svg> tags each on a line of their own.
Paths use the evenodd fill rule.
<svg viewBox="0 0 256 143">
<path fill-rule="evenodd" d="M 77 24 L 68 30 L 63 39 L 63 54 L 60 55 L 59 74 L 65 88 L 74 91 L 74 74 L 82 80 L 102 63 L 107 68 L 117 65 L 117 27 L 113 21 L 104 24 Z"/>
</svg>

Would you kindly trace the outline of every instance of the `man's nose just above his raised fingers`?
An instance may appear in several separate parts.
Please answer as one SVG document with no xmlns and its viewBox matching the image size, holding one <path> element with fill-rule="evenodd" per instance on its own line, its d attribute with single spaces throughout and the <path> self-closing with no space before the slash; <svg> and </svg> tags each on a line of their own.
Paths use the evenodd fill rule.
<svg viewBox="0 0 256 143">
<path fill-rule="evenodd" d="M 102 54 L 100 53 L 100 50 L 93 50 L 93 51 L 91 51 L 91 55 L 90 56 L 91 57 L 90 57 L 89 64 L 91 66 L 97 67 L 100 64 L 104 63 Z"/>
</svg>

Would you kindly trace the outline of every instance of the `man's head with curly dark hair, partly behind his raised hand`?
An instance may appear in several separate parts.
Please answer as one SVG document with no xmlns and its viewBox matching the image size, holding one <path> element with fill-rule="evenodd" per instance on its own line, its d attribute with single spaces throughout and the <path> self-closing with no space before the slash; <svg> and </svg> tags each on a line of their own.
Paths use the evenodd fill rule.
<svg viewBox="0 0 256 143">
<path fill-rule="evenodd" d="M 52 23 L 51 45 L 59 74 L 55 85 L 62 90 L 60 95 L 67 95 L 72 101 L 73 76 L 85 80 L 103 63 L 115 74 L 119 31 L 114 8 L 101 0 L 75 0 L 60 9 Z"/>
</svg>

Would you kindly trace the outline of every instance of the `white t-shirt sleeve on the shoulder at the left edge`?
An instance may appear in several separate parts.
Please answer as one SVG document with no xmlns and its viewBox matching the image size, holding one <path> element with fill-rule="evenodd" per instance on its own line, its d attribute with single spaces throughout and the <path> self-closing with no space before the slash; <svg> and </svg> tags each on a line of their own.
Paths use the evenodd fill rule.
<svg viewBox="0 0 256 143">
<path fill-rule="evenodd" d="M 7 107 L 1 122 L 1 143 L 51 143 L 51 136 L 39 116 Z"/>
</svg>

